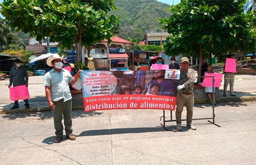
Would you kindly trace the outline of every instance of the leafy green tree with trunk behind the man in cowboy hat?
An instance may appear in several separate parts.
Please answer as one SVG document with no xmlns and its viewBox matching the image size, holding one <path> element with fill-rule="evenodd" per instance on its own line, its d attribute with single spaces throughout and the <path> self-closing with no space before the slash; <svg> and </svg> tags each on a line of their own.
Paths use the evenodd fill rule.
<svg viewBox="0 0 256 165">
<path fill-rule="evenodd" d="M 6 0 L 1 13 L 9 24 L 35 36 L 50 37 L 63 48 L 76 43 L 77 61 L 81 45 L 87 46 L 113 36 L 118 18 L 108 16 L 114 0 Z"/>
</svg>

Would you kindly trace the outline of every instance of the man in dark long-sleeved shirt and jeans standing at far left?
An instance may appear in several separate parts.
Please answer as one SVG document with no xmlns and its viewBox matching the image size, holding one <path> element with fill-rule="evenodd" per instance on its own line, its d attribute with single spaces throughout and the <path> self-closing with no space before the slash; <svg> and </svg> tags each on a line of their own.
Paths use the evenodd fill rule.
<svg viewBox="0 0 256 165">
<path fill-rule="evenodd" d="M 26 87 L 28 87 L 28 81 L 29 81 L 28 73 L 26 71 L 26 68 L 21 65 L 20 58 L 16 58 L 14 60 L 14 64 L 15 65 L 11 68 L 10 79 L 9 79 L 10 83 L 8 87 L 10 88 L 12 85 L 13 87 L 20 86 L 20 85 L 26 85 Z M 19 100 L 14 101 L 14 105 L 11 109 L 19 108 L 18 102 Z M 25 102 L 24 104 L 25 107 L 30 108 L 29 100 L 26 99 L 24 100 L 24 102 Z"/>
</svg>

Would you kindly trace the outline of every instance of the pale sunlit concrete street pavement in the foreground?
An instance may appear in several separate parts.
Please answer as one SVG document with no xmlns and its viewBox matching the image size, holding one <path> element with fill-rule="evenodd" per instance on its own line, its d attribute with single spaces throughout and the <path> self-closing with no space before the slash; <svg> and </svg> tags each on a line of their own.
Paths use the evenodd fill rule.
<svg viewBox="0 0 256 165">
<path fill-rule="evenodd" d="M 220 128 L 207 120 L 196 120 L 196 131 L 185 128 L 183 122 L 181 132 L 174 130 L 174 122 L 167 123 L 170 131 L 160 126 L 161 110 L 87 114 L 75 110 L 73 130 L 77 139 L 70 141 L 64 137 L 59 144 L 52 143 L 55 130 L 50 111 L 0 114 L 0 164 L 253 165 L 256 164 L 255 105 L 255 101 L 219 103 L 215 108 L 215 121 Z M 195 105 L 194 118 L 211 117 L 211 112 L 208 104 Z M 185 114 L 186 111 L 183 118 Z"/>
</svg>

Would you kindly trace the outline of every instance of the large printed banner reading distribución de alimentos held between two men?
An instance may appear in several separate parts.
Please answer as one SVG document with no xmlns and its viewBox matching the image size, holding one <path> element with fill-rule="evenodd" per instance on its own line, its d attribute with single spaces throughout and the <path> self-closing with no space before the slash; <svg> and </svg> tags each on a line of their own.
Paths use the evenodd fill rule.
<svg viewBox="0 0 256 165">
<path fill-rule="evenodd" d="M 179 80 L 165 79 L 165 72 L 165 70 L 82 71 L 84 111 L 175 110 Z"/>
</svg>

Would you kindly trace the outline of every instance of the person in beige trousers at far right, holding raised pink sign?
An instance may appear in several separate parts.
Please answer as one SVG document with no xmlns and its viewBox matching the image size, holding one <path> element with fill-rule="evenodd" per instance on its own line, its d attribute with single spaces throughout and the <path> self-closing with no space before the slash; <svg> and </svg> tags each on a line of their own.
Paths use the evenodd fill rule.
<svg viewBox="0 0 256 165">
<path fill-rule="evenodd" d="M 234 58 L 235 54 L 227 54 L 227 58 Z M 225 65 L 224 65 L 224 71 L 225 71 Z M 230 96 L 236 97 L 236 94 L 233 93 L 234 88 L 234 82 L 235 82 L 235 73 L 231 72 L 225 72 L 224 75 L 224 89 L 223 89 L 223 96 L 227 97 L 227 85 L 230 85 Z"/>
</svg>

